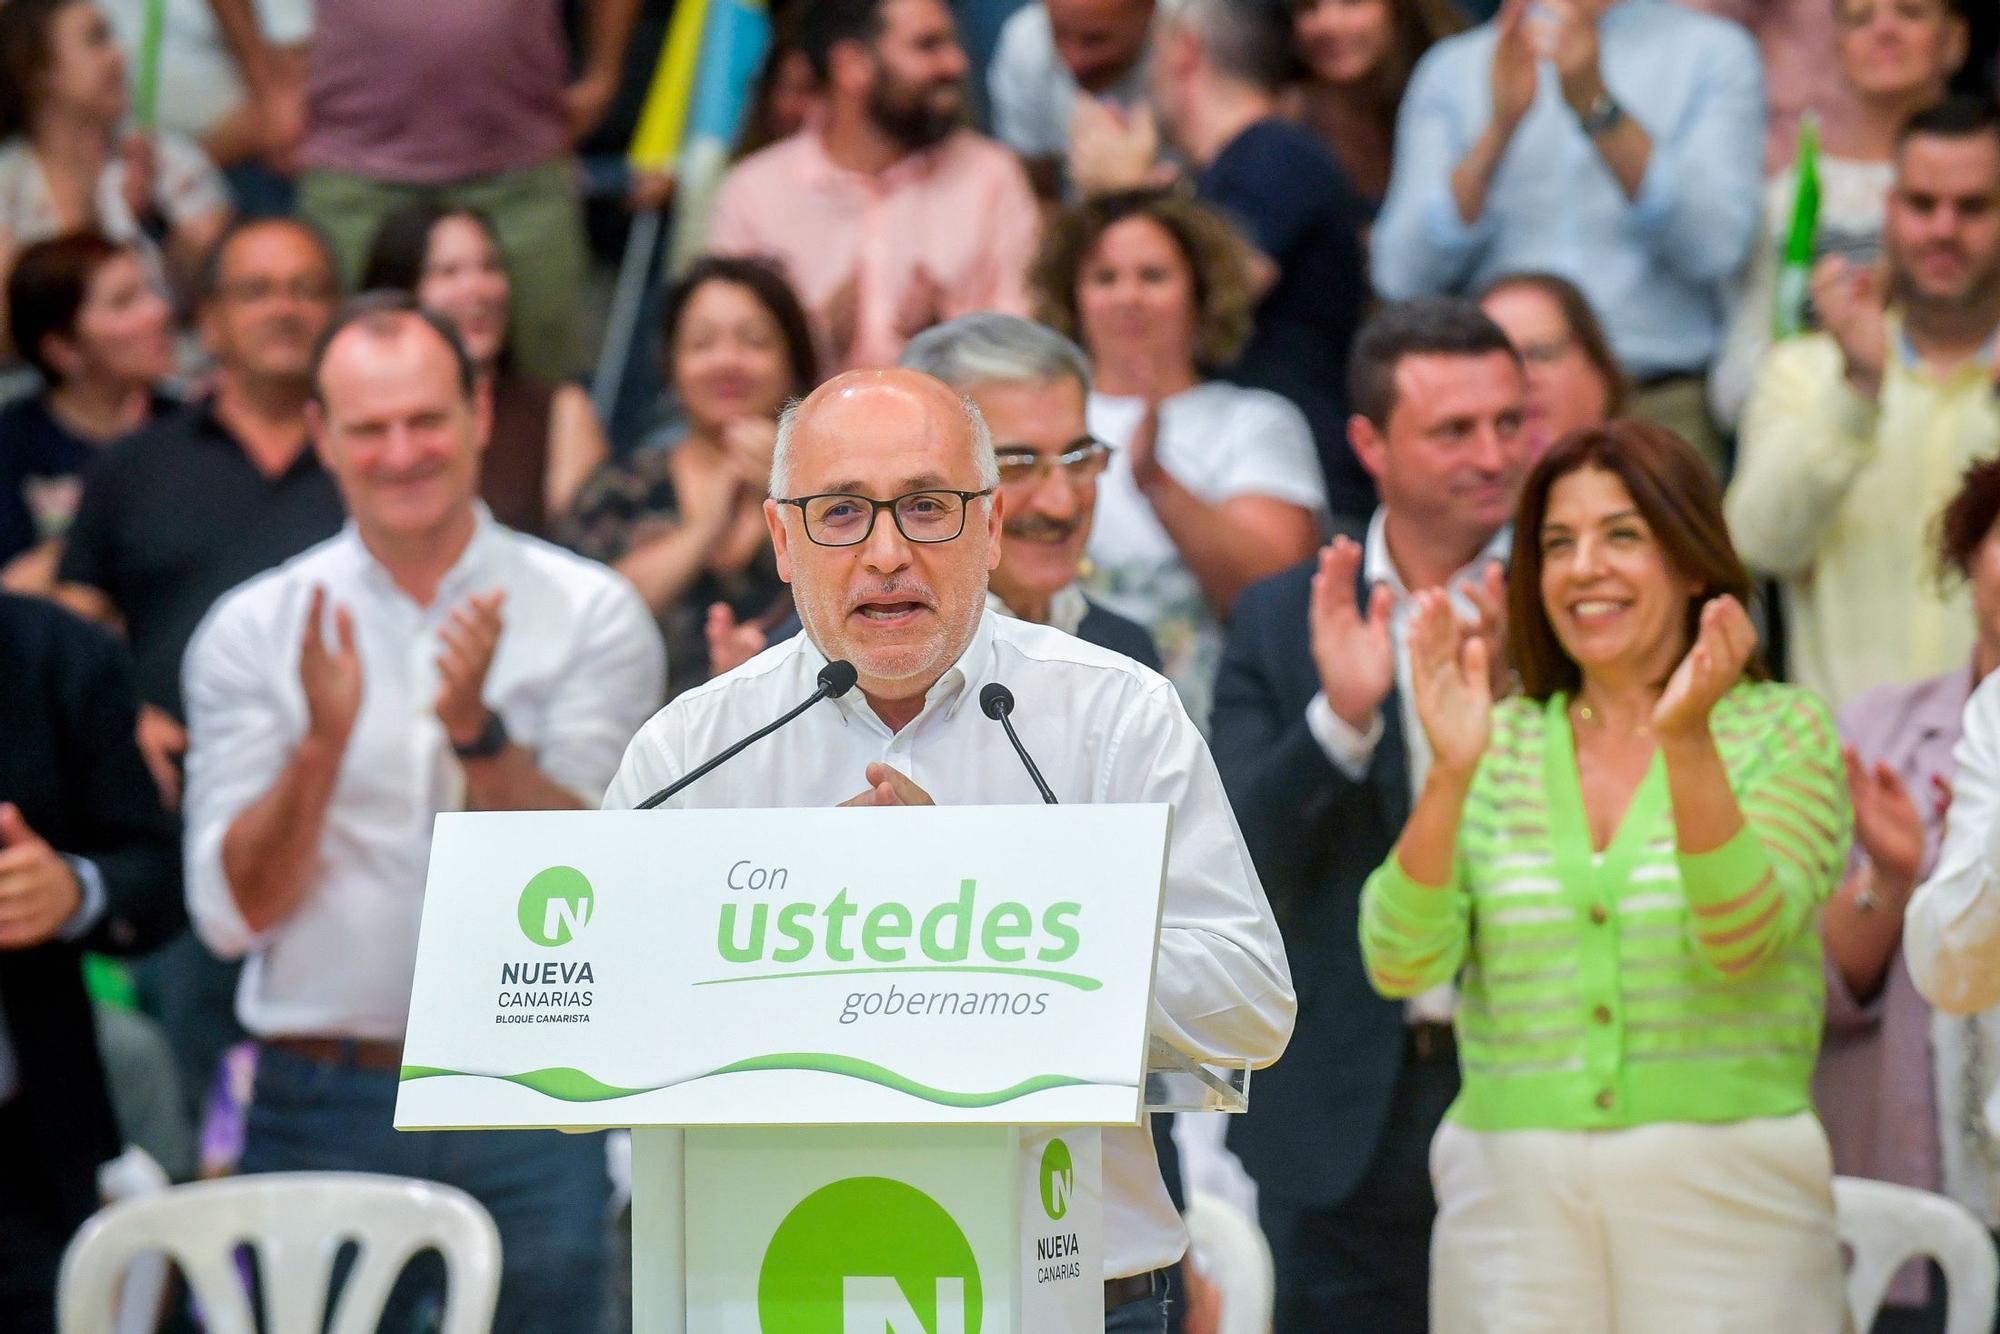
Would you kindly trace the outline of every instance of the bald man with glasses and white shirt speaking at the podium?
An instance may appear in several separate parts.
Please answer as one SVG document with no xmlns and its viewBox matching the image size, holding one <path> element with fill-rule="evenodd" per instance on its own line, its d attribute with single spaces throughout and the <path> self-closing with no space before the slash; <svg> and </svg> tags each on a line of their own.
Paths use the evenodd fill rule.
<svg viewBox="0 0 2000 1334">
<path fill-rule="evenodd" d="M 1168 802 L 1174 840 L 1152 1032 L 1208 1062 L 1270 1064 L 1292 976 L 1194 722 L 1166 678 L 986 608 L 1002 498 L 978 408 L 912 370 L 858 370 L 788 410 L 764 502 L 804 634 L 690 690 L 626 750 L 606 808 L 638 806 L 814 694 L 828 662 L 856 690 L 702 774 L 674 808 Z M 992 686 L 1036 776 L 1008 740 Z M 1186 1230 L 1144 1128 L 1104 1132 L 1104 1328 L 1166 1328 Z"/>
</svg>

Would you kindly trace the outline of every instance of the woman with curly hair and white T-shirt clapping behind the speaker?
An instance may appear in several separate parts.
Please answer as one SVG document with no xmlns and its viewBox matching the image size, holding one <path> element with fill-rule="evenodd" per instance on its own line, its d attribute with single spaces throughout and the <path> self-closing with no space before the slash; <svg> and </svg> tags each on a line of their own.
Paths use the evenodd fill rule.
<svg viewBox="0 0 2000 1334">
<path fill-rule="evenodd" d="M 1248 248 L 1192 200 L 1110 194 L 1050 226 L 1030 282 L 1042 322 L 1090 354 L 1090 434 L 1114 450 L 1086 588 L 1152 630 L 1206 726 L 1222 618 L 1244 588 L 1312 554 L 1326 508 L 1300 410 L 1208 378 L 1250 334 Z"/>
</svg>

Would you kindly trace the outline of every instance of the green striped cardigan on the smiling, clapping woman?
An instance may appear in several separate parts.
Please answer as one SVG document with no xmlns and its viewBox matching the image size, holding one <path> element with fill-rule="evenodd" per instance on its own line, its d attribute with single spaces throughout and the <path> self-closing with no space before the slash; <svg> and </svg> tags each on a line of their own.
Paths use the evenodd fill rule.
<svg viewBox="0 0 2000 1334">
<path fill-rule="evenodd" d="M 1362 890 L 1362 954 L 1384 996 L 1458 978 L 1470 1130 L 1726 1122 L 1810 1106 L 1826 1006 L 1818 908 L 1852 828 L 1826 706 L 1738 684 L 1710 730 L 1744 828 L 1674 848 L 1666 764 L 1602 860 L 1584 818 L 1566 696 L 1494 708 L 1452 884 L 1390 852 Z"/>
</svg>

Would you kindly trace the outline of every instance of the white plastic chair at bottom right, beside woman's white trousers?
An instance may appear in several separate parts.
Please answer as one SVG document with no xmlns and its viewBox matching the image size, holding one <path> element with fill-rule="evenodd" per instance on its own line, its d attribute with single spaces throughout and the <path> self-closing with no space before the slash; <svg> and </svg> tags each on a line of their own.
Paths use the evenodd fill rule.
<svg viewBox="0 0 2000 1334">
<path fill-rule="evenodd" d="M 1994 1328 L 1994 1256 L 1986 1224 L 1972 1212 L 1928 1190 L 1834 1178 L 1834 1226 L 1854 1250 L 1848 1270 L 1848 1314 L 1868 1330 L 1882 1294 L 1904 1260 L 1930 1256 L 1944 1270 L 1944 1334 L 1990 1334 Z"/>
</svg>

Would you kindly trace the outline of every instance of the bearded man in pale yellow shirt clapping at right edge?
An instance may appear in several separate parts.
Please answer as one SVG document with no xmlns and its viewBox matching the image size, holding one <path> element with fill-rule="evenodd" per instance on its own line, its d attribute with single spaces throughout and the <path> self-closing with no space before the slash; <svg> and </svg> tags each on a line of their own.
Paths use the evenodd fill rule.
<svg viewBox="0 0 2000 1334">
<path fill-rule="evenodd" d="M 1814 268 L 1822 332 L 1764 360 L 1728 492 L 1736 548 L 1782 584 L 1790 678 L 1834 706 L 1970 658 L 1926 534 L 2000 450 L 2000 110 L 1918 112 L 1894 164 L 1882 266 Z"/>
</svg>

